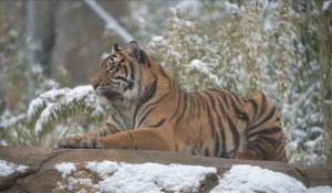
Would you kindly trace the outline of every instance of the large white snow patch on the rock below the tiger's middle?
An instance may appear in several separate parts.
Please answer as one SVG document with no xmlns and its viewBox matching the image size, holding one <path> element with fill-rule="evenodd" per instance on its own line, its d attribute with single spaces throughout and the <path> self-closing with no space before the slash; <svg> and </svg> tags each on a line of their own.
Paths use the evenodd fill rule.
<svg viewBox="0 0 332 193">
<path fill-rule="evenodd" d="M 97 164 L 100 165 L 95 165 L 95 170 L 92 171 L 110 171 L 111 165 L 111 173 L 103 173 L 103 181 L 96 184 L 102 192 L 189 192 L 199 186 L 199 181 L 204 180 L 206 174 L 217 173 L 215 168 L 179 164 L 128 164 L 107 161 Z"/>
</svg>

